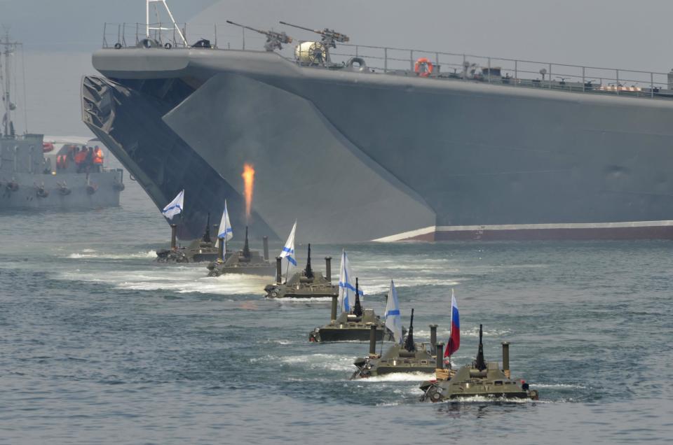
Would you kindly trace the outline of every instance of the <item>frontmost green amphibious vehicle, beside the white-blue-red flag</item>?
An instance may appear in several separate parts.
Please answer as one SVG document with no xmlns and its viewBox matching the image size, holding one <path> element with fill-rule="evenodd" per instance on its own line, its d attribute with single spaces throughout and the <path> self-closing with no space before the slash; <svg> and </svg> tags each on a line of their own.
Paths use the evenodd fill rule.
<svg viewBox="0 0 673 445">
<path fill-rule="evenodd" d="M 438 355 L 442 344 L 437 345 Z M 437 380 L 421 384 L 421 402 L 444 402 L 465 397 L 490 397 L 497 399 L 538 400 L 537 390 L 531 390 L 528 383 L 510 379 L 510 344 L 503 342 L 503 366 L 498 362 L 484 360 L 482 325 L 479 325 L 479 350 L 477 358 L 457 372 L 441 372 L 442 362 L 437 360 Z M 442 375 L 443 374 L 443 375 Z"/>
</svg>

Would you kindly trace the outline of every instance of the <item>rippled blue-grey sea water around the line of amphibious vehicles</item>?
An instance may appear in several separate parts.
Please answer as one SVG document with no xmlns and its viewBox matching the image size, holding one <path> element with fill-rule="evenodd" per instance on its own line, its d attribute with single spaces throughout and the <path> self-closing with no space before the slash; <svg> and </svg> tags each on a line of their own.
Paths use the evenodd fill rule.
<svg viewBox="0 0 673 445">
<path fill-rule="evenodd" d="M 428 404 L 422 375 L 349 381 L 367 344 L 308 343 L 327 300 L 269 301 L 266 278 L 156 264 L 168 226 L 137 184 L 122 196 L 118 209 L 0 213 L 1 443 L 673 439 L 670 242 L 346 246 L 365 306 L 383 312 L 393 278 L 405 325 L 414 308 L 416 336 L 438 323 L 443 338 L 454 288 L 456 365 L 483 323 L 487 359 L 511 341 L 512 373 L 541 393 Z M 303 262 L 301 221 L 297 241 Z M 314 267 L 341 247 L 313 246 Z"/>
</svg>

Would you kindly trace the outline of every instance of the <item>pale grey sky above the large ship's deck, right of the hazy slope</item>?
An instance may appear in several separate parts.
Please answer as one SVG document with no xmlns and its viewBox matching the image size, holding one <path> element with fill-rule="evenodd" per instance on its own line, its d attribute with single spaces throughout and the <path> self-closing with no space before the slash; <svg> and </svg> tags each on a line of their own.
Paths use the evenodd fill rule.
<svg viewBox="0 0 673 445">
<path fill-rule="evenodd" d="M 671 17 L 670 0 L 226 0 L 190 24 L 229 18 L 311 38 L 284 20 L 337 29 L 354 44 L 666 72 Z"/>
</svg>

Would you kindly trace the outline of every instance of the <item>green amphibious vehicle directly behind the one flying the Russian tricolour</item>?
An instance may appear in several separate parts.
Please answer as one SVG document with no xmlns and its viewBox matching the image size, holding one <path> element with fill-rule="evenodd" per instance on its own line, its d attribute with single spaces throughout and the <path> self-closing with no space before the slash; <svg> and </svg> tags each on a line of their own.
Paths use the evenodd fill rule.
<svg viewBox="0 0 673 445">
<path fill-rule="evenodd" d="M 414 309 L 405 341 L 393 344 L 382 355 L 376 354 L 376 325 L 371 325 L 369 329 L 369 355 L 355 360 L 353 365 L 358 370 L 353 372 L 351 380 L 394 372 L 435 372 L 436 359 L 430 344 L 437 338 L 437 325 L 430 325 L 430 344 L 414 342 Z"/>
</svg>

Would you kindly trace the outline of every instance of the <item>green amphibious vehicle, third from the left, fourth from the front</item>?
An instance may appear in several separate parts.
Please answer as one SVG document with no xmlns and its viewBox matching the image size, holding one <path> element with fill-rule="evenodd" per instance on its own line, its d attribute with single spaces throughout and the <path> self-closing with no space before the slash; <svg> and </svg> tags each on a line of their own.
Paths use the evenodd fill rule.
<svg viewBox="0 0 673 445">
<path fill-rule="evenodd" d="M 311 244 L 308 244 L 306 268 L 283 283 L 281 258 L 276 258 L 276 283 L 264 288 L 268 298 L 338 297 L 339 287 L 332 284 L 332 258 L 325 257 L 325 276 L 311 267 Z"/>
</svg>

